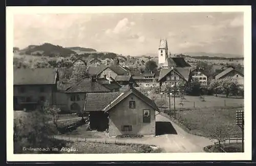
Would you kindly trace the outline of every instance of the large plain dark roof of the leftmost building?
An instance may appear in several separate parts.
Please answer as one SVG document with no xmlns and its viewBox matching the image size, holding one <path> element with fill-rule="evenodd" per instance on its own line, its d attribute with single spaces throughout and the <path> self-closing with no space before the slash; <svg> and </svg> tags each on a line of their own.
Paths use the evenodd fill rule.
<svg viewBox="0 0 256 166">
<path fill-rule="evenodd" d="M 56 76 L 54 68 L 18 68 L 13 70 L 13 85 L 55 84 Z"/>
</svg>

